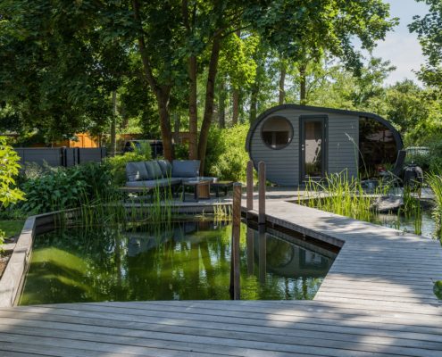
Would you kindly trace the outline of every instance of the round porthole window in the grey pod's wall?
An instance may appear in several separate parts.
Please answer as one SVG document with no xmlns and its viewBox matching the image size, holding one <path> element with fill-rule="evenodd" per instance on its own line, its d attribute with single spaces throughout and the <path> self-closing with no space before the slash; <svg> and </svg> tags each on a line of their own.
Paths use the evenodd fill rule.
<svg viewBox="0 0 442 357">
<path fill-rule="evenodd" d="M 279 150 L 286 147 L 293 138 L 293 127 L 286 118 L 271 117 L 264 121 L 261 137 L 265 145 Z"/>
</svg>

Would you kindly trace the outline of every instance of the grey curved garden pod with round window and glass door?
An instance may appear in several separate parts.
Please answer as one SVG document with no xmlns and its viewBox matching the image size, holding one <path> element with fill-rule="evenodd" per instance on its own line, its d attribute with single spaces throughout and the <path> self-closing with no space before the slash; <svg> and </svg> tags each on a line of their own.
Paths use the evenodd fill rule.
<svg viewBox="0 0 442 357">
<path fill-rule="evenodd" d="M 342 171 L 371 176 L 402 147 L 399 132 L 376 114 L 297 104 L 263 112 L 246 138 L 254 167 L 266 162 L 267 179 L 281 186 Z"/>
</svg>

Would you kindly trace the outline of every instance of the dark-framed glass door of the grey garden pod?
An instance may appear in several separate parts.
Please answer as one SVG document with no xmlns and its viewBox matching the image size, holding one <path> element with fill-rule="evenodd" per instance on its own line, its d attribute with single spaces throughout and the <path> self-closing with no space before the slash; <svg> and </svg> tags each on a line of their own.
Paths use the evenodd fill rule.
<svg viewBox="0 0 442 357">
<path fill-rule="evenodd" d="M 301 182 L 322 179 L 327 171 L 327 117 L 300 117 Z"/>
</svg>

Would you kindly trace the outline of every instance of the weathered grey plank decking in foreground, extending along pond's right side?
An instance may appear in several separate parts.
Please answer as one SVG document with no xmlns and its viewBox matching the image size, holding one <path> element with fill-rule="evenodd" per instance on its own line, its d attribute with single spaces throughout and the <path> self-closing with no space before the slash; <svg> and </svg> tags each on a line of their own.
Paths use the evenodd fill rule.
<svg viewBox="0 0 442 357">
<path fill-rule="evenodd" d="M 0 356 L 442 355 L 438 242 L 276 197 L 266 204 L 271 223 L 342 246 L 313 301 L 0 309 Z"/>
</svg>

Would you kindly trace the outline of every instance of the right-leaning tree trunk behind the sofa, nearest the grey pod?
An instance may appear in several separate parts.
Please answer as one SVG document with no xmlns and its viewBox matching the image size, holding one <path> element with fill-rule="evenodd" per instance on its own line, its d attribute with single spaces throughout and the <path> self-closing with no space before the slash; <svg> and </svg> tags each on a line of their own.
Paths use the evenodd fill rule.
<svg viewBox="0 0 442 357">
<path fill-rule="evenodd" d="M 213 101 L 216 73 L 218 71 L 218 59 L 220 57 L 221 38 L 213 37 L 212 54 L 209 62 L 209 72 L 207 75 L 207 84 L 205 87 L 205 105 L 204 118 L 201 125 L 198 143 L 198 157 L 201 160 L 200 175 L 204 175 L 205 150 L 207 149 L 207 140 L 209 138 L 210 125 L 213 117 Z"/>
</svg>

